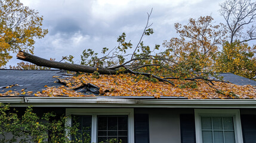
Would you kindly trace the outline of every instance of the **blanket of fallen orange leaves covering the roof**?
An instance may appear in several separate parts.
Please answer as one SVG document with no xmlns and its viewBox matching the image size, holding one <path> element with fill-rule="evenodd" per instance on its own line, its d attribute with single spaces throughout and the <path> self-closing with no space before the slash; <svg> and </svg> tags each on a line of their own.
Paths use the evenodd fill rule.
<svg viewBox="0 0 256 143">
<path fill-rule="evenodd" d="M 55 78 L 55 77 L 54 77 Z M 163 82 L 152 82 L 145 80 L 141 76 L 134 76 L 132 74 L 118 74 L 118 75 L 99 75 L 95 77 L 94 74 L 79 74 L 78 76 L 67 77 L 65 79 L 58 78 L 59 82 L 66 86 L 48 87 L 42 92 L 21 92 L 21 94 L 33 94 L 38 97 L 88 97 L 95 95 L 84 95 L 81 92 L 76 92 L 78 89 L 89 83 L 98 86 L 100 95 L 102 96 L 153 96 L 155 98 L 161 97 L 187 97 L 190 99 L 215 99 L 215 98 L 254 98 L 256 99 L 256 88 L 251 85 L 234 85 L 232 83 L 213 82 L 216 91 L 203 81 L 197 82 L 197 88 L 186 88 L 179 85 L 184 85 L 187 81 L 172 80 L 176 86 L 169 85 Z M 188 82 L 187 82 L 188 83 Z M 17 91 L 8 91 L 0 96 L 14 96 L 20 95 Z"/>
</svg>

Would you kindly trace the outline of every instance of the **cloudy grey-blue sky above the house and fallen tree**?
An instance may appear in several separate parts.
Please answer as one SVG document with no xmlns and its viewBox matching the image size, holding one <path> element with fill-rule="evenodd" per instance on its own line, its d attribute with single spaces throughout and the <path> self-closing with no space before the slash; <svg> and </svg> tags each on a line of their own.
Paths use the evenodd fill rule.
<svg viewBox="0 0 256 143">
<path fill-rule="evenodd" d="M 145 45 L 162 45 L 177 36 L 174 23 L 186 24 L 189 18 L 212 15 L 216 24 L 224 22 L 218 13 L 223 0 L 20 0 L 44 16 L 43 28 L 49 33 L 37 39 L 34 54 L 61 60 L 73 55 L 79 63 L 84 49 L 114 48 L 122 32 L 135 45 L 153 8 L 150 23 L 155 33 L 144 37 Z M 14 57 L 16 54 L 13 54 Z M 13 58 L 8 65 L 20 62 Z"/>
</svg>

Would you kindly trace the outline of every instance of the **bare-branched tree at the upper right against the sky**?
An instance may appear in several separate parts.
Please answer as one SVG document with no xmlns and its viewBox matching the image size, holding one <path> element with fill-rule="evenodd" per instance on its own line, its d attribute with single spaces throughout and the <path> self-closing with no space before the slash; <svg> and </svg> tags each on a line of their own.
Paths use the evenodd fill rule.
<svg viewBox="0 0 256 143">
<path fill-rule="evenodd" d="M 220 7 L 220 14 L 227 23 L 230 43 L 256 39 L 256 2 L 227 0 Z"/>
</svg>

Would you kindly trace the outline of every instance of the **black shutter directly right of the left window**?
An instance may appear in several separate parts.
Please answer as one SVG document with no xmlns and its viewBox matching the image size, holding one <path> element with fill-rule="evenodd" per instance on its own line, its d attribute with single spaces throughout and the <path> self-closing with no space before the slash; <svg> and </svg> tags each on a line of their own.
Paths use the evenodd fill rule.
<svg viewBox="0 0 256 143">
<path fill-rule="evenodd" d="M 149 143 L 149 114 L 134 114 L 135 143 Z"/>
</svg>

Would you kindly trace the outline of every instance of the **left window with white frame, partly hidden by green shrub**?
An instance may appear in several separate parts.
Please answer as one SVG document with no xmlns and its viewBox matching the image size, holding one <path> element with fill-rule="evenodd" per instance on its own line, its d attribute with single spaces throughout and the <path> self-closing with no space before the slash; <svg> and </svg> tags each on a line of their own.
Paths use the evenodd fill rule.
<svg viewBox="0 0 256 143">
<path fill-rule="evenodd" d="M 90 135 L 91 142 L 111 138 L 121 139 L 124 143 L 134 142 L 133 109 L 69 108 L 66 109 L 66 115 L 72 115 L 72 119 L 80 123 L 78 134 L 82 135 L 82 139 Z M 69 125 L 72 119 L 69 119 Z M 74 138 L 75 136 L 72 136 L 72 139 Z"/>
</svg>

